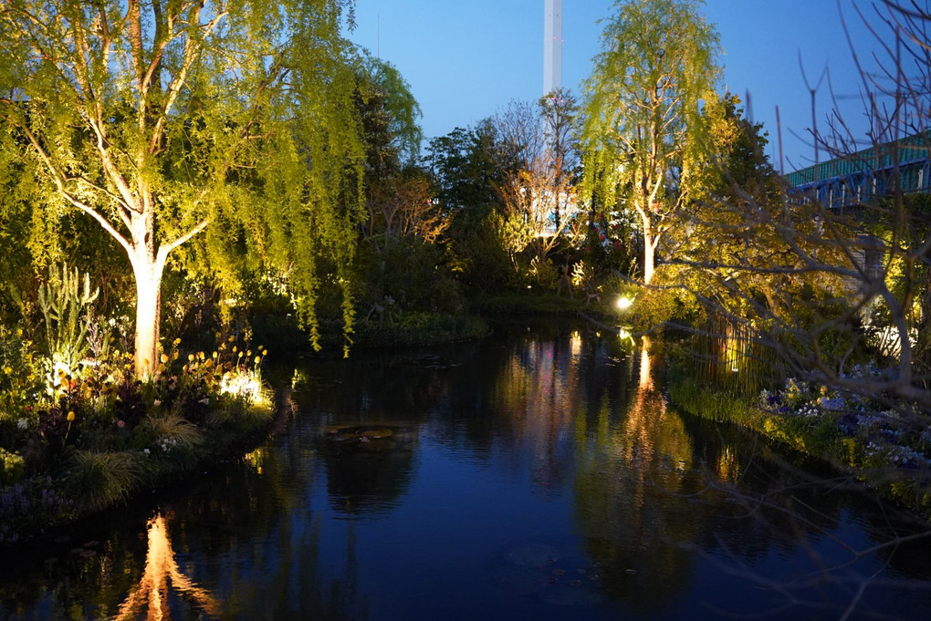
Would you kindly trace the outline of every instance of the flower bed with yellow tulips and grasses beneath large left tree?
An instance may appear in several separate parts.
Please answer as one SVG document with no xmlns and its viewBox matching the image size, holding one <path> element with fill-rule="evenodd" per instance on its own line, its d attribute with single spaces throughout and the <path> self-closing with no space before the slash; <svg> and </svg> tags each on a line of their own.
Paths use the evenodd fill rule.
<svg viewBox="0 0 931 621">
<path fill-rule="evenodd" d="M 15 336 L 0 327 L 0 353 L 34 356 L 21 340 L 21 350 L 12 347 Z M 134 378 L 131 355 L 111 351 L 80 376 L 61 369 L 56 390 L 5 411 L 0 542 L 110 506 L 267 429 L 267 351 L 214 336 L 210 354 L 182 352 L 181 341 L 172 342 L 157 377 L 144 384 Z M 0 373 L 0 381 L 11 375 Z"/>
</svg>

